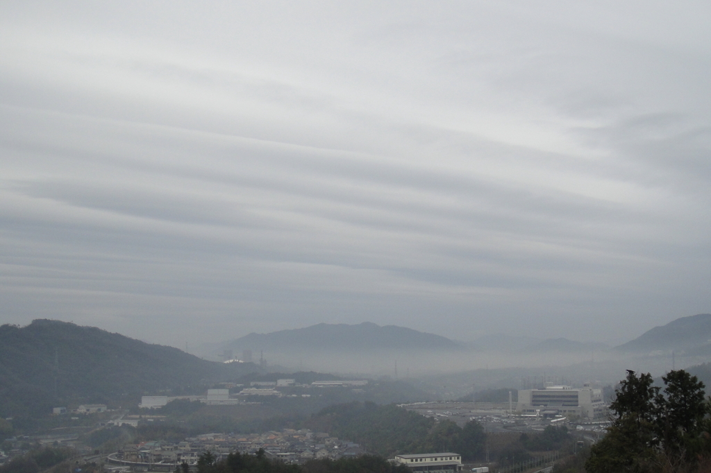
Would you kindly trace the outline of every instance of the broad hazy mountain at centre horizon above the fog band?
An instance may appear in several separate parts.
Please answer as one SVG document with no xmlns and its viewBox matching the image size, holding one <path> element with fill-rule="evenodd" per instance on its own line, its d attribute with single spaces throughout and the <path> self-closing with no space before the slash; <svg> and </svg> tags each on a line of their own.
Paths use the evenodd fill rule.
<svg viewBox="0 0 711 473">
<path fill-rule="evenodd" d="M 454 350 L 460 345 L 446 337 L 417 332 L 405 327 L 372 322 L 358 325 L 326 324 L 279 330 L 267 334 L 250 333 L 227 346 L 236 350 L 250 349 L 269 352 L 379 352 Z"/>
</svg>

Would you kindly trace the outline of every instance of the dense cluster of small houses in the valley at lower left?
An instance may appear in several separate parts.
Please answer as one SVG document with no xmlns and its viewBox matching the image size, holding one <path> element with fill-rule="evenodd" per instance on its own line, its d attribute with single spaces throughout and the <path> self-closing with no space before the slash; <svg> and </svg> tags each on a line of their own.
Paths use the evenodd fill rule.
<svg viewBox="0 0 711 473">
<path fill-rule="evenodd" d="M 287 463 L 301 464 L 308 460 L 355 457 L 364 453 L 360 445 L 339 440 L 326 433 L 314 433 L 308 429 L 284 429 L 262 434 L 211 433 L 186 438 L 183 442 L 144 442 L 125 445 L 122 450 L 109 455 L 109 462 L 117 464 L 164 464 L 186 462 L 195 464 L 198 457 L 210 451 L 215 457 L 227 457 L 230 452 L 255 454 L 264 450 L 269 458 Z"/>
</svg>

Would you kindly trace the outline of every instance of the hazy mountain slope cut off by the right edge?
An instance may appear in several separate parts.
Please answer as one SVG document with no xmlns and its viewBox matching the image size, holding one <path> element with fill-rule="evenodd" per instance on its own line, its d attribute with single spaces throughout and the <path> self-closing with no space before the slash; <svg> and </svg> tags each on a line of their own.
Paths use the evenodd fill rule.
<svg viewBox="0 0 711 473">
<path fill-rule="evenodd" d="M 711 342 L 711 314 L 681 317 L 616 347 L 621 352 L 686 350 Z"/>
</svg>

